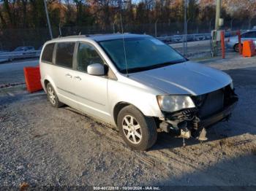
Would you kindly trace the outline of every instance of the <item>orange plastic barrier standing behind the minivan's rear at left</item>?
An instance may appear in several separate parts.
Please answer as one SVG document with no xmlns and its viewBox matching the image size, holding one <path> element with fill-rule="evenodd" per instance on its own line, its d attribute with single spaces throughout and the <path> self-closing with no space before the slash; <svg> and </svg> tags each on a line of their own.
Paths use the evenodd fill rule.
<svg viewBox="0 0 256 191">
<path fill-rule="evenodd" d="M 39 66 L 37 67 L 25 67 L 23 69 L 25 81 L 26 81 L 26 89 L 29 93 L 34 93 L 39 90 L 42 90 L 42 85 L 40 82 L 41 76 L 39 71 Z"/>
</svg>

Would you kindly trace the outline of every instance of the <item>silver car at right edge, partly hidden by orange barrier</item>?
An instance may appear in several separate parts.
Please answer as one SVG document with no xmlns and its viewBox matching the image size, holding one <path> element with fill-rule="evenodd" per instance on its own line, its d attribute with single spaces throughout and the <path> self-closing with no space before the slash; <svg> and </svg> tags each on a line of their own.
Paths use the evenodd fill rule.
<svg viewBox="0 0 256 191">
<path fill-rule="evenodd" d="M 243 34 L 241 34 L 241 44 L 243 44 L 243 42 L 246 40 L 252 40 L 256 46 L 256 30 L 246 31 Z M 238 36 L 232 36 L 229 39 L 227 39 L 227 48 L 239 52 Z"/>
</svg>

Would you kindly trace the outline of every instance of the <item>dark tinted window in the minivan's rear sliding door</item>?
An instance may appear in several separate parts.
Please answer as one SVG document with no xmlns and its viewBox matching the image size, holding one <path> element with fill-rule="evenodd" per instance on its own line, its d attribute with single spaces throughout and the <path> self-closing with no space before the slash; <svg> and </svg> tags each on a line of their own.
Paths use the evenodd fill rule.
<svg viewBox="0 0 256 191">
<path fill-rule="evenodd" d="M 72 68 L 75 42 L 61 42 L 57 44 L 56 64 Z"/>
</svg>

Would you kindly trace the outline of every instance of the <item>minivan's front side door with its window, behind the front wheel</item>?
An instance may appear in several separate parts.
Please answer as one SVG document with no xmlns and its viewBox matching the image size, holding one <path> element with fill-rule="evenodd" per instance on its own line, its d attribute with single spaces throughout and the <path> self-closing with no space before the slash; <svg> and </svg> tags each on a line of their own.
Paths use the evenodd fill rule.
<svg viewBox="0 0 256 191">
<path fill-rule="evenodd" d="M 93 63 L 105 64 L 97 49 L 89 43 L 80 42 L 76 47 L 74 89 L 80 109 L 108 119 L 108 77 L 87 74 L 87 66 Z"/>
</svg>

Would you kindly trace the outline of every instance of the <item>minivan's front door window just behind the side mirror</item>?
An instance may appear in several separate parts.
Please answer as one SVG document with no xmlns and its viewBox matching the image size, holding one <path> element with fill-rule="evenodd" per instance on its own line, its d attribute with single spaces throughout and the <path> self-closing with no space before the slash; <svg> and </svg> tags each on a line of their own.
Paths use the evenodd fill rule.
<svg viewBox="0 0 256 191">
<path fill-rule="evenodd" d="M 89 44 L 79 44 L 78 48 L 78 71 L 87 72 L 87 66 L 92 63 L 104 64 L 95 48 Z"/>
</svg>

